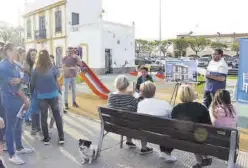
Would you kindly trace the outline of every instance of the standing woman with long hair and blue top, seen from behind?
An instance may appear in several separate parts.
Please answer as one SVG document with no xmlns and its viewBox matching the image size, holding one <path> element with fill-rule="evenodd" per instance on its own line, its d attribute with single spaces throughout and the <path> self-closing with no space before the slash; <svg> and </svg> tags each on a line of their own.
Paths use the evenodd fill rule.
<svg viewBox="0 0 248 168">
<path fill-rule="evenodd" d="M 47 50 L 39 52 L 36 60 L 34 71 L 31 76 L 31 86 L 37 93 L 41 110 L 41 127 L 44 134 L 44 144 L 50 144 L 50 136 L 48 132 L 47 117 L 49 106 L 52 109 L 53 117 L 58 129 L 58 143 L 64 144 L 64 131 L 62 118 L 59 111 L 58 104 L 58 71 L 53 66 Z"/>
</svg>

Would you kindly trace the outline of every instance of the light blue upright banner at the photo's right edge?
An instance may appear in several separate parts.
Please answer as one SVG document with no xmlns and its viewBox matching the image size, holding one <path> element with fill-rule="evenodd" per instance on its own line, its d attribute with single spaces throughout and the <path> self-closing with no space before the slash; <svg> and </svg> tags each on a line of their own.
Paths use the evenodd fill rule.
<svg viewBox="0 0 248 168">
<path fill-rule="evenodd" d="M 248 104 L 248 39 L 240 39 L 237 101 Z"/>
</svg>

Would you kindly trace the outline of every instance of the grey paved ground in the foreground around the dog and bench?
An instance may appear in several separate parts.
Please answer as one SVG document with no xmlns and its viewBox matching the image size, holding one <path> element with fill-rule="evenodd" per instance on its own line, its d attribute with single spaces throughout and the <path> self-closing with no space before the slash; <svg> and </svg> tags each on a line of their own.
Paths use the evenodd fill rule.
<svg viewBox="0 0 248 168">
<path fill-rule="evenodd" d="M 178 158 L 174 164 L 166 163 L 158 157 L 158 147 L 154 147 L 152 154 L 141 156 L 139 147 L 136 149 L 128 149 L 124 146 L 119 148 L 119 136 L 109 134 L 103 144 L 102 155 L 100 159 L 92 165 L 80 165 L 80 157 L 78 153 L 78 139 L 85 138 L 97 144 L 100 123 L 75 114 L 66 114 L 64 116 L 64 126 L 66 132 L 66 144 L 63 147 L 57 145 L 57 132 L 52 132 L 52 144 L 44 146 L 38 139 L 32 137 L 29 128 L 24 130 L 24 143 L 28 147 L 35 148 L 35 153 L 22 155 L 21 157 L 27 161 L 25 165 L 13 166 L 7 163 L 8 168 L 189 168 L 195 163 L 193 154 L 175 150 L 173 155 Z M 139 146 L 138 140 L 135 143 Z M 5 154 L 7 160 L 7 153 Z M 226 163 L 214 159 L 212 168 L 224 168 Z M 210 167 L 209 167 L 210 168 Z M 248 153 L 240 152 L 237 168 L 248 168 Z"/>
</svg>

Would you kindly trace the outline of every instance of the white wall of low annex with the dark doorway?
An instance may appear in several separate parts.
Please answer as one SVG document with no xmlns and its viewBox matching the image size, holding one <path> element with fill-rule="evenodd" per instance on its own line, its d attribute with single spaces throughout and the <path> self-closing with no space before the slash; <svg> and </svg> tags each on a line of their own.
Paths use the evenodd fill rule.
<svg viewBox="0 0 248 168">
<path fill-rule="evenodd" d="M 112 67 L 120 68 L 125 64 L 125 67 L 133 67 L 135 59 L 135 34 L 134 27 L 114 24 L 110 22 L 103 23 L 103 48 L 102 52 L 105 55 L 105 49 L 112 50 Z M 117 41 L 120 41 L 117 44 Z M 105 57 L 103 56 L 105 65 Z"/>
</svg>

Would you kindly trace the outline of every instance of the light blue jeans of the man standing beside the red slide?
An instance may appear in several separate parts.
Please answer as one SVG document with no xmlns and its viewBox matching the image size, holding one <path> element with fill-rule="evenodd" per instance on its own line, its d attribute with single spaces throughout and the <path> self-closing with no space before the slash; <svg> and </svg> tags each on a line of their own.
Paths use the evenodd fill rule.
<svg viewBox="0 0 248 168">
<path fill-rule="evenodd" d="M 72 102 L 76 102 L 76 77 L 64 78 L 64 86 L 65 86 L 65 93 L 64 93 L 65 103 L 68 103 L 69 86 L 71 86 L 71 90 L 72 90 Z"/>
</svg>

